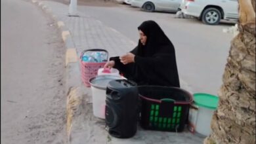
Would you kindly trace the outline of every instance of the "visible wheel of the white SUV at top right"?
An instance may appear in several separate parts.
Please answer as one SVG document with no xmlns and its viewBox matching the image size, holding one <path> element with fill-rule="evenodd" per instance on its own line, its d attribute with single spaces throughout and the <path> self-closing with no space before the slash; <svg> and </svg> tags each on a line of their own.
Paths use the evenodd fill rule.
<svg viewBox="0 0 256 144">
<path fill-rule="evenodd" d="M 204 24 L 217 25 L 221 21 L 221 12 L 215 8 L 208 8 L 203 11 L 202 21 Z"/>
</svg>

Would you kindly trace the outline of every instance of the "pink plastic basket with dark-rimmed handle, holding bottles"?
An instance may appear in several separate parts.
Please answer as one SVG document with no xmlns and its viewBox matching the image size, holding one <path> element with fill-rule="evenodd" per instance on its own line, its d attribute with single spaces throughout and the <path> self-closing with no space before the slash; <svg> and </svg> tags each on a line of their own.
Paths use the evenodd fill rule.
<svg viewBox="0 0 256 144">
<path fill-rule="evenodd" d="M 106 52 L 107 54 L 107 60 L 108 60 L 108 52 L 104 49 L 89 49 L 89 50 L 83 50 L 81 52 L 80 56 L 80 70 L 81 70 L 81 79 L 83 81 L 83 84 L 85 84 L 86 87 L 90 87 L 91 84 L 89 80 L 93 77 L 96 77 L 98 73 L 98 69 L 104 67 L 106 62 L 83 62 L 83 54 L 88 51 L 93 52 Z"/>
</svg>

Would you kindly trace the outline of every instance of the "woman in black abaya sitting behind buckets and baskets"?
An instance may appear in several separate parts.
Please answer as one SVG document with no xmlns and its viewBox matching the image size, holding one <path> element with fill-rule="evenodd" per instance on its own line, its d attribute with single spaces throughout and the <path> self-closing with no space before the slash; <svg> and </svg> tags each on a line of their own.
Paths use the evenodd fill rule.
<svg viewBox="0 0 256 144">
<path fill-rule="evenodd" d="M 140 39 L 131 52 L 110 58 L 104 67 L 114 67 L 138 85 L 180 87 L 175 48 L 152 20 L 138 27 Z"/>
</svg>

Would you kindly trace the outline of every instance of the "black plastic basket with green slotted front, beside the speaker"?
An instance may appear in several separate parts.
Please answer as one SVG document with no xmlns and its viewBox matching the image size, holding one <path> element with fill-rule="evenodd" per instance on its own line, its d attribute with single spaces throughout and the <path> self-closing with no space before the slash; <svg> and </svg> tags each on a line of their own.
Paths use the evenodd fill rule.
<svg viewBox="0 0 256 144">
<path fill-rule="evenodd" d="M 165 86 L 139 86 L 140 126 L 146 130 L 181 132 L 188 118 L 192 94 Z"/>
</svg>

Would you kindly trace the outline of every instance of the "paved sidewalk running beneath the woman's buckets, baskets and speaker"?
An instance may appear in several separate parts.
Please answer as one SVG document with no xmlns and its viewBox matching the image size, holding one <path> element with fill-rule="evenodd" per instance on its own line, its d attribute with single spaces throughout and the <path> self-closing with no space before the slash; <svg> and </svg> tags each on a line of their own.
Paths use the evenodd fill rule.
<svg viewBox="0 0 256 144">
<path fill-rule="evenodd" d="M 68 5 L 53 1 L 40 2 L 45 6 L 45 9 L 48 9 L 50 13 L 53 14 L 56 21 L 62 21 L 65 27 L 70 31 L 71 40 L 66 42 L 66 45 L 74 46 L 78 57 L 83 50 L 87 50 L 89 48 L 104 48 L 108 50 L 109 56 L 118 56 L 128 52 L 136 46 L 135 42 L 127 39 L 127 37 L 115 29 L 105 26 L 102 24 L 102 22 L 92 18 L 91 16 L 83 13 L 79 13 L 79 17 L 68 16 Z M 79 65 L 79 62 L 77 62 L 76 65 Z M 68 75 L 68 77 L 72 77 L 70 75 L 80 75 L 80 73 L 79 71 L 75 70 L 68 73 Z M 184 84 L 182 81 L 181 85 L 186 86 L 186 84 Z M 188 88 L 185 89 L 188 90 Z M 69 95 L 72 93 L 73 91 L 70 91 Z M 76 105 L 75 111 L 72 112 L 72 118 L 68 118 L 68 121 L 70 121 L 70 124 L 68 124 L 68 135 L 70 135 L 68 139 L 72 144 L 197 144 L 203 142 L 202 137 L 193 135 L 187 130 L 184 130 L 182 133 L 156 132 L 142 130 L 139 126 L 137 134 L 134 137 L 129 139 L 117 139 L 108 135 L 108 132 L 105 130 L 104 120 L 100 120 L 93 116 L 91 89 L 85 88 L 81 82 L 81 79 L 79 79 L 79 84 L 75 87 L 74 93 L 74 96 L 77 97 L 76 99 L 79 99 L 78 102 L 75 102 L 79 104 Z M 72 99 L 71 97 L 72 96 L 68 96 L 68 99 Z M 69 101 L 67 103 L 69 103 Z M 67 107 L 69 106 L 67 105 Z M 77 111 L 77 109 L 79 109 L 79 111 Z"/>
</svg>

